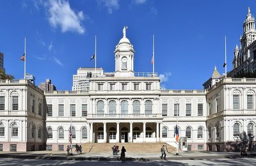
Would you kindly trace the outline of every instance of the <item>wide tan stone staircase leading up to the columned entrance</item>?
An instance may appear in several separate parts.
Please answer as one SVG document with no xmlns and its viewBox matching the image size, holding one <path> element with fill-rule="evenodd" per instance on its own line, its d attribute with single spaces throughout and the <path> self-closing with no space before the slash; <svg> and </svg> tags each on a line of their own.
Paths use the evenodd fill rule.
<svg viewBox="0 0 256 166">
<path fill-rule="evenodd" d="M 164 143 L 119 143 L 119 150 L 122 146 L 129 153 L 160 153 L 160 149 Z M 173 146 L 164 144 L 169 153 L 175 153 L 176 149 Z M 113 143 L 84 143 L 82 144 L 84 153 L 112 153 Z"/>
</svg>

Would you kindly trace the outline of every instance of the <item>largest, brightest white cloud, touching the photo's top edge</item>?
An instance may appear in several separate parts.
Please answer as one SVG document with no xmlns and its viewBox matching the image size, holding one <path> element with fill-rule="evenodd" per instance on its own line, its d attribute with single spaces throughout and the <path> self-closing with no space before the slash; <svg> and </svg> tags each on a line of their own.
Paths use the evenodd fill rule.
<svg viewBox="0 0 256 166">
<path fill-rule="evenodd" d="M 84 20 L 83 11 L 77 13 L 70 8 L 66 0 L 50 0 L 45 4 L 49 13 L 49 23 L 52 27 L 61 27 L 61 32 L 74 31 L 83 34 L 85 29 L 81 24 Z"/>
</svg>

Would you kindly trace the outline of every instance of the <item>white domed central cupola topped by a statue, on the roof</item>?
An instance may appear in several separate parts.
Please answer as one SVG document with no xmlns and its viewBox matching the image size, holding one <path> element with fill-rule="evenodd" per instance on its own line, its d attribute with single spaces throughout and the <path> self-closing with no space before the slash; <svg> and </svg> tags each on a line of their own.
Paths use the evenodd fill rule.
<svg viewBox="0 0 256 166">
<path fill-rule="evenodd" d="M 115 77 L 132 77 L 134 50 L 131 42 L 126 38 L 126 29 L 123 29 L 123 38 L 116 45 L 115 49 Z"/>
</svg>

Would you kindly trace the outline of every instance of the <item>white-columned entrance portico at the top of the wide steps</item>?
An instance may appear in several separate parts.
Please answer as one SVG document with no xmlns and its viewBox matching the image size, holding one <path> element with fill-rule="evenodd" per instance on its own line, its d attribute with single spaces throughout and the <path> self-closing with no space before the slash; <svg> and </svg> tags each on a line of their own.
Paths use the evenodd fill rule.
<svg viewBox="0 0 256 166">
<path fill-rule="evenodd" d="M 159 122 L 95 122 L 90 123 L 89 142 L 125 143 L 125 142 L 159 142 Z"/>
</svg>

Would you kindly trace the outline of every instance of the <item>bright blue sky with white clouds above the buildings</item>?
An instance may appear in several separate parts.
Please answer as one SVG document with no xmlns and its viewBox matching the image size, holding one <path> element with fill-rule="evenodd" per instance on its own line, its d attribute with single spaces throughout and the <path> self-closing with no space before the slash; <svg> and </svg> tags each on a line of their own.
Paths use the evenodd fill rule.
<svg viewBox="0 0 256 166">
<path fill-rule="evenodd" d="M 24 37 L 27 72 L 36 84 L 49 78 L 57 89 L 70 90 L 72 75 L 89 61 L 97 35 L 97 66 L 115 71 L 115 45 L 128 26 L 134 45 L 134 72 L 152 72 L 152 34 L 155 34 L 155 70 L 167 89 L 202 89 L 216 64 L 218 71 L 232 58 L 248 6 L 256 15 L 255 1 L 245 0 L 95 0 L 0 1 L 0 52 L 6 73 L 21 79 Z"/>
</svg>

